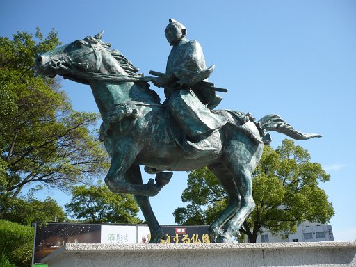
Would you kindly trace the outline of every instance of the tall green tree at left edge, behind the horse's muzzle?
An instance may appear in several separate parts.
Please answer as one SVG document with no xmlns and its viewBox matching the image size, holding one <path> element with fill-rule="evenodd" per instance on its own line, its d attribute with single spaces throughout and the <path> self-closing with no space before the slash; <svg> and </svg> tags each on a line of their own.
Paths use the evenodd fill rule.
<svg viewBox="0 0 356 267">
<path fill-rule="evenodd" d="M 108 167 L 90 130 L 98 114 L 74 111 L 59 81 L 35 72 L 35 58 L 58 44 L 53 30 L 0 37 L 0 218 L 24 186 L 66 190 Z"/>
</svg>

